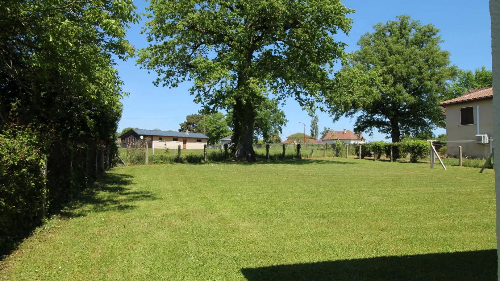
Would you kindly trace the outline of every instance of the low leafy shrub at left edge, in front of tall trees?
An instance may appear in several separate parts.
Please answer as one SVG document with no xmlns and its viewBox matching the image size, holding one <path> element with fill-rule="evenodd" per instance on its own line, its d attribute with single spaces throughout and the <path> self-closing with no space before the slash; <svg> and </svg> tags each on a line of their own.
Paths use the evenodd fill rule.
<svg viewBox="0 0 500 281">
<path fill-rule="evenodd" d="M 30 127 L 0 132 L 0 253 L 42 219 L 43 159 Z"/>
</svg>

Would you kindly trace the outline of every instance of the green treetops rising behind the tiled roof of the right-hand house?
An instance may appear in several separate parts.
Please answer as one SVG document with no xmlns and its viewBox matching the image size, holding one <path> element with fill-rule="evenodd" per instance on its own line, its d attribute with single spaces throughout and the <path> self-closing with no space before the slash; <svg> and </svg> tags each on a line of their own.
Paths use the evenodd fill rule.
<svg viewBox="0 0 500 281">
<path fill-rule="evenodd" d="M 462 95 L 464 92 L 479 87 L 489 88 L 493 85 L 493 76 L 491 70 L 486 70 L 485 66 L 471 70 L 458 70 L 458 75 L 451 81 L 443 100 L 452 99 Z"/>
</svg>

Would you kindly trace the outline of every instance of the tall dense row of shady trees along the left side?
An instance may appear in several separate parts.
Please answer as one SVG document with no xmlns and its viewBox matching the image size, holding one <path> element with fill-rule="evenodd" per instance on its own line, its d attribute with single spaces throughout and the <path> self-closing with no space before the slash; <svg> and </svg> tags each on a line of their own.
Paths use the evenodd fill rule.
<svg viewBox="0 0 500 281">
<path fill-rule="evenodd" d="M 131 0 L 0 0 L 0 6 L 0 132 L 12 145 L 26 145 L 5 144 L 1 153 L 9 155 L 2 159 L 29 152 L 39 161 L 40 155 L 47 157 L 45 214 L 50 214 L 96 178 L 98 145 L 110 144 L 111 165 L 115 162 L 119 99 L 127 93 L 113 67 L 116 58 L 133 55 L 125 30 L 139 16 Z M 22 130 L 36 138 L 19 142 Z M 35 175 L 39 165 L 30 158 L 2 166 L 2 186 L 17 188 L 8 192 L 28 191 L 8 202 L 11 211 L 19 211 L 20 200 L 28 203 L 7 226 L 8 239 L 25 235 L 41 219 L 39 194 L 33 191 L 41 180 Z M 1 249 L 8 246 L 4 242 Z"/>
</svg>

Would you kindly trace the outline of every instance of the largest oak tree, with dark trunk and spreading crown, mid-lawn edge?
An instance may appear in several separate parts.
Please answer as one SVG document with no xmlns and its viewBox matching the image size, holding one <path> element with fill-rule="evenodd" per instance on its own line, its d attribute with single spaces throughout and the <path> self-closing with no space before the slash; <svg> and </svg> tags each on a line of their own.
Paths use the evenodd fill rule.
<svg viewBox="0 0 500 281">
<path fill-rule="evenodd" d="M 203 110 L 232 110 L 237 160 L 255 160 L 255 108 L 270 93 L 313 111 L 323 101 L 352 10 L 340 0 L 150 0 L 138 63 L 156 85 L 190 80 Z"/>
</svg>

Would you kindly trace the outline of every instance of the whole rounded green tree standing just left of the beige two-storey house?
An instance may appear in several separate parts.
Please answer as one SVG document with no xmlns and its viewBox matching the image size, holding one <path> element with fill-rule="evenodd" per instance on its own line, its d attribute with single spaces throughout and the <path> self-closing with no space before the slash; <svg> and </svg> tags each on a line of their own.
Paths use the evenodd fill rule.
<svg viewBox="0 0 500 281">
<path fill-rule="evenodd" d="M 456 67 L 440 49 L 439 29 L 406 15 L 373 28 L 335 75 L 328 102 L 334 119 L 356 116 L 355 132 L 376 128 L 392 142 L 444 126 L 438 103 Z"/>
</svg>

